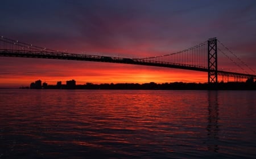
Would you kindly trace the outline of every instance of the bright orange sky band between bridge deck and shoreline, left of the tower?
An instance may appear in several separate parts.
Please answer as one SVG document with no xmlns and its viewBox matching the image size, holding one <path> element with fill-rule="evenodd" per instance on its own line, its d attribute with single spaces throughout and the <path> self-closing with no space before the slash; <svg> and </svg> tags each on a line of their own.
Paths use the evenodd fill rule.
<svg viewBox="0 0 256 159">
<path fill-rule="evenodd" d="M 0 85 L 7 87 L 27 86 L 38 79 L 48 84 L 56 84 L 57 81 L 65 84 L 65 81 L 71 79 L 75 79 L 77 84 L 207 81 L 207 72 L 175 68 L 32 58 L 5 57 L 1 61 L 5 61 L 6 65 L 3 68 L 8 69 L 9 72 L 0 76 Z"/>
</svg>

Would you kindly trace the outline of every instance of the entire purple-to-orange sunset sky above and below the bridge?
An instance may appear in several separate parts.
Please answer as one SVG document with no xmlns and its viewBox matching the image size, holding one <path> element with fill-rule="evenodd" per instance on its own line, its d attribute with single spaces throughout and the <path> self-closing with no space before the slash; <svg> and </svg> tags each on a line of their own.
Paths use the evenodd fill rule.
<svg viewBox="0 0 256 159">
<path fill-rule="evenodd" d="M 256 70 L 256 1 L 2 0 L 0 36 L 68 53 L 140 58 L 217 37 Z M 220 54 L 220 53 L 219 53 Z M 236 71 L 235 65 L 219 68 Z M 250 72 L 251 73 L 251 72 Z M 0 87 L 207 82 L 207 72 L 117 63 L 0 57 Z"/>
</svg>

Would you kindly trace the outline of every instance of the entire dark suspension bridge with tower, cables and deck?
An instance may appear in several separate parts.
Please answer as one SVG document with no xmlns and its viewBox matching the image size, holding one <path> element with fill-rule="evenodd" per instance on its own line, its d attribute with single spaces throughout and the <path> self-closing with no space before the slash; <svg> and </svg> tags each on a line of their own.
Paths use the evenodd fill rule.
<svg viewBox="0 0 256 159">
<path fill-rule="evenodd" d="M 242 63 L 235 62 L 224 51 L 217 48 L 217 44 L 224 46 L 226 50 L 234 55 Z M 230 72 L 218 70 L 218 51 L 220 51 L 229 61 L 241 68 L 245 73 Z M 146 65 L 156 67 L 180 68 L 184 70 L 208 72 L 208 83 L 218 83 L 218 76 L 234 77 L 234 79 L 255 79 L 256 73 L 245 62 L 238 58 L 217 38 L 209 38 L 199 45 L 189 49 L 178 51 L 176 53 L 158 55 L 146 58 L 127 58 L 111 57 L 105 55 L 74 54 L 56 51 L 52 49 L 34 46 L 25 42 L 11 40 L 10 38 L 0 37 L 0 56 L 1 57 L 22 57 L 22 58 L 44 58 L 44 59 L 64 59 L 75 61 L 94 61 L 94 62 L 111 62 L 125 63 L 131 65 Z M 249 68 L 253 74 L 249 74 L 243 66 Z"/>
</svg>

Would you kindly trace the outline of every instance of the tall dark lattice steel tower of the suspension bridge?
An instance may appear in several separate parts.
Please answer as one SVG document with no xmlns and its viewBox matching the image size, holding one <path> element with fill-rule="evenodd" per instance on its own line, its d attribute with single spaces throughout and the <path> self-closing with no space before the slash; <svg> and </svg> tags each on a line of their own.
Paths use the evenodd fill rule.
<svg viewBox="0 0 256 159">
<path fill-rule="evenodd" d="M 208 40 L 208 83 L 217 84 L 217 38 L 209 38 Z"/>
</svg>

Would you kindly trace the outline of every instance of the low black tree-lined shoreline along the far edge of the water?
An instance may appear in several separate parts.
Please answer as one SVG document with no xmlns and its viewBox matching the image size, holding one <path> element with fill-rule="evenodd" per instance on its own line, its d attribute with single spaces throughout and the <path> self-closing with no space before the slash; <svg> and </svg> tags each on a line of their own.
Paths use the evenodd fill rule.
<svg viewBox="0 0 256 159">
<path fill-rule="evenodd" d="M 117 84 L 93 84 L 86 83 L 83 85 L 72 85 L 69 87 L 66 84 L 61 85 L 44 85 L 44 87 L 20 87 L 20 89 L 110 89 L 110 90 L 256 90 L 256 82 L 228 82 L 228 83 L 117 83 Z"/>
</svg>

